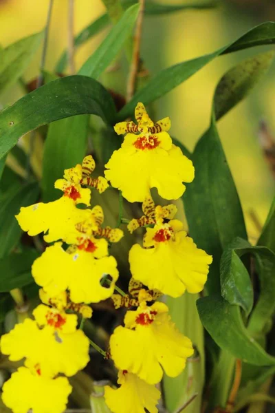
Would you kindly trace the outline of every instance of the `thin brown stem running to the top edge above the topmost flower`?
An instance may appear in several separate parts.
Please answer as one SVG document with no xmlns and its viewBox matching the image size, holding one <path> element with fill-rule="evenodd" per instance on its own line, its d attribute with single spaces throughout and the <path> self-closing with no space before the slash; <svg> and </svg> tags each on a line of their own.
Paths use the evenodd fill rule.
<svg viewBox="0 0 275 413">
<path fill-rule="evenodd" d="M 129 72 L 129 80 L 127 85 L 126 100 L 132 98 L 135 93 L 135 83 L 137 79 L 137 72 L 140 65 L 140 43 L 142 36 L 142 22 L 144 17 L 145 0 L 140 0 L 140 12 L 137 16 L 137 24 L 135 27 L 135 36 L 133 38 L 133 56 Z"/>
</svg>

